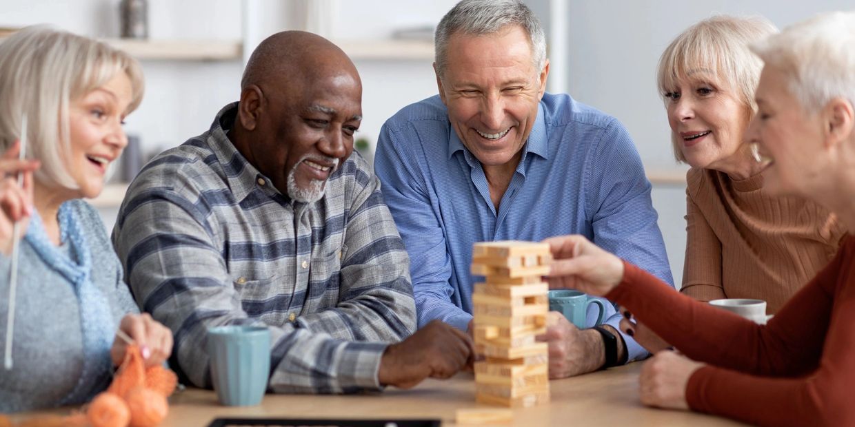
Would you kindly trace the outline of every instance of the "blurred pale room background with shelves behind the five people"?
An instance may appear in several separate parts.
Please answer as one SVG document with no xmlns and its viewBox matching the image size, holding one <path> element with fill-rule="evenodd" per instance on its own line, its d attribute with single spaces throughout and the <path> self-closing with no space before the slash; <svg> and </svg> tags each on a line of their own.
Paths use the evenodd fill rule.
<svg viewBox="0 0 855 427">
<path fill-rule="evenodd" d="M 109 230 L 141 164 L 210 126 L 239 97 L 246 59 L 268 35 L 286 29 L 333 40 L 363 79 L 357 149 L 372 157 L 380 126 L 410 102 L 437 93 L 433 26 L 456 0 L 0 0 L 3 32 L 48 23 L 105 38 L 138 57 L 145 96 L 127 120 L 132 143 L 108 188 L 93 203 Z M 653 203 L 677 286 L 686 244 L 685 172 L 674 161 L 655 85 L 671 38 L 715 13 L 764 15 L 787 26 L 817 12 L 852 9 L 852 0 L 527 0 L 547 32 L 547 90 L 616 116 L 634 137 L 653 184 Z M 122 33 L 126 38 L 121 38 Z M 124 170 L 121 170 L 121 169 Z"/>
</svg>

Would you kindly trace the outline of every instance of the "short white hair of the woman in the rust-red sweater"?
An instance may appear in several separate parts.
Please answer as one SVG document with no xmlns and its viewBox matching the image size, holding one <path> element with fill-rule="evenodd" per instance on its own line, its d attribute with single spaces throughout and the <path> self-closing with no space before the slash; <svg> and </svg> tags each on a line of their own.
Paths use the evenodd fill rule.
<svg viewBox="0 0 855 427">
<path fill-rule="evenodd" d="M 752 44 L 767 65 L 787 76 L 808 112 L 842 97 L 855 106 L 855 11 L 827 12 Z"/>
</svg>

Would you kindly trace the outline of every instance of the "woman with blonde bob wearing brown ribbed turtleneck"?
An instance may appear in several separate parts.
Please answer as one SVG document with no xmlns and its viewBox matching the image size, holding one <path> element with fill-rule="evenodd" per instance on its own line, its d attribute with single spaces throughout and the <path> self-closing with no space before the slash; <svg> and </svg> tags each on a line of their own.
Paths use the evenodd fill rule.
<svg viewBox="0 0 855 427">
<path fill-rule="evenodd" d="M 748 45 L 775 32 L 760 17 L 702 20 L 668 46 L 657 73 L 674 154 L 692 167 L 681 292 L 760 299 L 769 313 L 831 260 L 844 233 L 817 203 L 770 196 L 746 141 L 763 67 Z"/>
</svg>

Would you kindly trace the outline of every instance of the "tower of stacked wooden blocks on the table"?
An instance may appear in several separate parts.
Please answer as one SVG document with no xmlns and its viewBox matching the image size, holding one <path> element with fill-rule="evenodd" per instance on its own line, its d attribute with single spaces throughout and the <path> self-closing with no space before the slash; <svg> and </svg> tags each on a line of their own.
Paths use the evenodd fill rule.
<svg viewBox="0 0 855 427">
<path fill-rule="evenodd" d="M 475 401 L 533 407 L 549 401 L 549 352 L 534 337 L 546 331 L 548 290 L 541 277 L 552 256 L 546 243 L 475 243 L 472 274 L 484 276 L 472 294 Z"/>
</svg>

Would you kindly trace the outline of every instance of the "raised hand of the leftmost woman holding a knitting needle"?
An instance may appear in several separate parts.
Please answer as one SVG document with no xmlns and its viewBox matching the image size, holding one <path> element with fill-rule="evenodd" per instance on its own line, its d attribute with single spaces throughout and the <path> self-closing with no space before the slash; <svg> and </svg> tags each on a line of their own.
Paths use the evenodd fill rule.
<svg viewBox="0 0 855 427">
<path fill-rule="evenodd" d="M 38 169 L 38 161 L 18 160 L 21 143 L 0 156 L 0 252 L 12 253 L 15 222 L 21 221 L 19 236 L 27 232 L 32 214 L 32 172 Z M 18 185 L 18 173 L 23 173 L 23 187 Z"/>
</svg>

